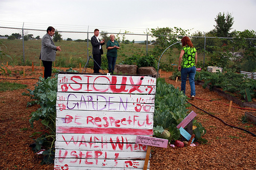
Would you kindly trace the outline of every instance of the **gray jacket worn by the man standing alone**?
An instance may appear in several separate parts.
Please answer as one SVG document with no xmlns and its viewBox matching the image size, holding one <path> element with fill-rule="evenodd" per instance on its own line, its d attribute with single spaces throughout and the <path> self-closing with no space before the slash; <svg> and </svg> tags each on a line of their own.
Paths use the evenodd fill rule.
<svg viewBox="0 0 256 170">
<path fill-rule="evenodd" d="M 44 35 L 44 37 L 42 37 L 42 47 L 39 59 L 44 61 L 55 61 L 56 48 L 57 46 L 54 45 L 51 36 L 49 34 Z"/>
</svg>

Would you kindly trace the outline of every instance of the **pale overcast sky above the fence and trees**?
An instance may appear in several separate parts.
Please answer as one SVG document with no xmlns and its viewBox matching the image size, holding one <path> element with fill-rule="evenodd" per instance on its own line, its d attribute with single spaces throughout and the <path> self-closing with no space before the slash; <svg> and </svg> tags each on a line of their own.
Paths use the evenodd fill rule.
<svg viewBox="0 0 256 170">
<path fill-rule="evenodd" d="M 219 12 L 234 17 L 232 30 L 256 30 L 256 0 L 0 0 L 0 27 L 107 32 L 179 27 L 208 32 Z"/>
</svg>

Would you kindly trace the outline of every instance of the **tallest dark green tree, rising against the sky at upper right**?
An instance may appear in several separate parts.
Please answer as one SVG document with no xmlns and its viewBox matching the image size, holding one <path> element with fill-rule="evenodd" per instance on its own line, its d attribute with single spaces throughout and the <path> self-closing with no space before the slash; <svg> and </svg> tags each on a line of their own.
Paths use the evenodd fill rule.
<svg viewBox="0 0 256 170">
<path fill-rule="evenodd" d="M 229 31 L 232 29 L 232 25 L 234 23 L 234 18 L 231 16 L 230 13 L 223 14 L 220 12 L 218 13 L 217 17 L 215 18 L 216 21 L 216 35 L 217 37 L 230 37 Z"/>
</svg>

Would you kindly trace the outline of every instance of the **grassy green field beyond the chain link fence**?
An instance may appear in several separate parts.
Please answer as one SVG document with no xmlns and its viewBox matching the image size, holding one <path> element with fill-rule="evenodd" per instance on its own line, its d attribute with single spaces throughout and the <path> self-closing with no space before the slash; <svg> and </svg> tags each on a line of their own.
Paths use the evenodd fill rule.
<svg viewBox="0 0 256 170">
<path fill-rule="evenodd" d="M 24 57 L 23 57 L 23 42 L 22 40 L 8 40 L 3 39 L 1 40 L 3 45 L 0 45 L 1 50 L 9 55 L 9 58 L 0 59 L 1 63 L 8 62 L 8 65 L 32 65 L 32 62 L 35 66 L 40 65 L 39 55 L 41 51 L 41 40 L 28 40 L 25 41 L 25 64 L 24 64 Z M 56 60 L 55 66 L 59 67 L 73 67 L 78 68 L 79 63 L 83 67 L 87 62 L 87 42 L 77 42 L 77 41 L 60 41 L 55 42 L 56 46 L 61 45 L 61 52 L 56 53 Z M 117 54 L 117 61 L 116 64 L 121 63 L 125 57 L 132 57 L 132 56 L 144 56 L 146 54 L 146 45 L 145 44 L 137 44 L 137 43 L 129 43 L 124 44 L 120 43 L 120 49 L 118 50 Z M 154 45 L 148 45 L 147 51 L 148 54 L 152 52 L 154 49 Z M 169 49 L 168 49 L 169 50 Z M 92 44 L 89 42 L 89 56 L 92 56 Z M 103 45 L 103 57 L 106 55 L 106 45 Z M 166 51 L 167 53 L 167 51 Z M 172 51 L 172 55 L 164 54 L 161 58 L 161 63 L 167 65 L 169 64 L 178 64 L 180 50 L 174 48 Z M 159 60 L 160 56 L 155 56 L 157 61 Z M 198 61 L 203 60 L 203 54 L 198 54 Z M 171 62 L 171 63 L 170 63 Z M 92 66 L 93 62 L 90 61 L 90 66 Z"/>
</svg>

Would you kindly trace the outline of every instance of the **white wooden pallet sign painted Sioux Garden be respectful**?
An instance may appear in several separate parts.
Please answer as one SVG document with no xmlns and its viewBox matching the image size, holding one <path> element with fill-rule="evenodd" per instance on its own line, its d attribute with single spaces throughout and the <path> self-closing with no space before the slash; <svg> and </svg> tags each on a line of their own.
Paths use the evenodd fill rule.
<svg viewBox="0 0 256 170">
<path fill-rule="evenodd" d="M 136 138 L 153 135 L 155 92 L 149 76 L 61 72 L 54 169 L 143 169 L 147 145 Z"/>
</svg>

